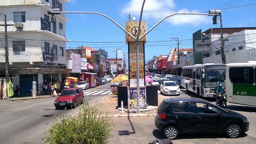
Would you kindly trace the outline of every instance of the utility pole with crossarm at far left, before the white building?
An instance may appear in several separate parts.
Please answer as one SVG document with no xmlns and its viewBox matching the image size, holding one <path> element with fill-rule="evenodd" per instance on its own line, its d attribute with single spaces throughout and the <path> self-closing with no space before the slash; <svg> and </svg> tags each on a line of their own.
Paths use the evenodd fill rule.
<svg viewBox="0 0 256 144">
<path fill-rule="evenodd" d="M 0 24 L 0 26 L 4 26 L 4 40 L 5 40 L 5 73 L 6 73 L 6 87 L 9 85 L 9 48 L 8 48 L 8 36 L 7 36 L 7 26 L 12 26 L 13 24 L 7 24 L 6 15 L 4 15 L 4 24 Z M 8 97 L 8 88 L 6 88 L 6 96 Z"/>
</svg>

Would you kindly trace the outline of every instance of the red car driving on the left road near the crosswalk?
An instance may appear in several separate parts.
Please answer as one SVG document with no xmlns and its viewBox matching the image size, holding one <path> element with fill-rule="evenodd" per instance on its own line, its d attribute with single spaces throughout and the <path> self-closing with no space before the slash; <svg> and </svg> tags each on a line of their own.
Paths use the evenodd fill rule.
<svg viewBox="0 0 256 144">
<path fill-rule="evenodd" d="M 54 106 L 56 109 L 72 107 L 73 109 L 78 104 L 84 103 L 84 92 L 81 88 L 68 88 L 62 91 L 62 93 L 54 100 Z"/>
</svg>

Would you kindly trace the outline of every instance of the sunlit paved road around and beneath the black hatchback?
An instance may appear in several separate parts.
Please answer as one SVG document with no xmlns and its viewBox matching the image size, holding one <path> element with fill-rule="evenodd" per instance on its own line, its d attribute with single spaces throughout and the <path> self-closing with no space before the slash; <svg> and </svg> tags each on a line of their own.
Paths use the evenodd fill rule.
<svg viewBox="0 0 256 144">
<path fill-rule="evenodd" d="M 185 92 L 185 91 L 183 91 Z M 195 97 L 192 93 L 181 93 L 174 97 Z M 158 94 L 159 97 L 162 96 Z M 215 103 L 215 99 L 206 98 L 206 100 Z M 173 140 L 174 144 L 256 144 L 256 107 L 242 106 L 239 104 L 227 103 L 227 109 L 234 110 L 246 116 L 250 122 L 249 131 L 241 135 L 240 138 L 230 139 L 225 135 L 180 135 L 178 140 Z M 112 118 L 115 127 L 112 130 L 113 137 L 110 144 L 147 144 L 156 140 L 156 138 L 165 138 L 154 125 L 154 116 L 142 117 L 122 117 Z"/>
</svg>

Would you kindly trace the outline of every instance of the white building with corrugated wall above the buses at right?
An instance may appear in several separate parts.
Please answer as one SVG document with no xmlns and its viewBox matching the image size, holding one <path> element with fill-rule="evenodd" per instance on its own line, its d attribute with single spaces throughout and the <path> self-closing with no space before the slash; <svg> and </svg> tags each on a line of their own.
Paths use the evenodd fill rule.
<svg viewBox="0 0 256 144">
<path fill-rule="evenodd" d="M 246 29 L 228 35 L 224 42 L 226 63 L 241 63 L 256 60 L 256 28 Z M 221 43 L 219 40 L 212 42 L 211 56 L 203 58 L 203 63 L 222 63 Z"/>
</svg>

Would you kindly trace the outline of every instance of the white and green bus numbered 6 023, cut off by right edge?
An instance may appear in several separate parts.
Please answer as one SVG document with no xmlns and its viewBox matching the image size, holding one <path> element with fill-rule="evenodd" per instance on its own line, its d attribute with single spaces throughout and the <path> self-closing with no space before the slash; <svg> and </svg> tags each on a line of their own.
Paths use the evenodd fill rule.
<svg viewBox="0 0 256 144">
<path fill-rule="evenodd" d="M 256 106 L 256 61 L 229 63 L 226 69 L 227 101 Z"/>
</svg>

